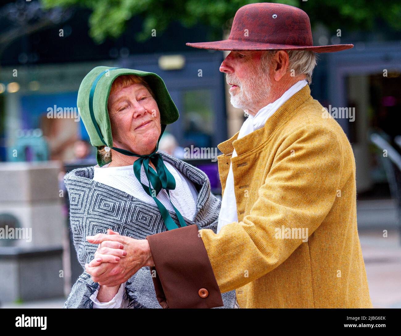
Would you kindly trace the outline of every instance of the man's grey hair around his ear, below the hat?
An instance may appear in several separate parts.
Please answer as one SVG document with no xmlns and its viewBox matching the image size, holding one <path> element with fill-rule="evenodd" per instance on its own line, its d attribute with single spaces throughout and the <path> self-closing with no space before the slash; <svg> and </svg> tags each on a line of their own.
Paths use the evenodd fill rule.
<svg viewBox="0 0 401 336">
<path fill-rule="evenodd" d="M 278 50 L 266 51 L 261 56 L 262 67 L 267 70 L 271 65 L 271 60 Z M 306 75 L 308 84 L 312 83 L 312 72 L 316 66 L 317 55 L 310 50 L 288 50 L 289 64 L 288 71 L 292 71 L 294 76 Z"/>
</svg>

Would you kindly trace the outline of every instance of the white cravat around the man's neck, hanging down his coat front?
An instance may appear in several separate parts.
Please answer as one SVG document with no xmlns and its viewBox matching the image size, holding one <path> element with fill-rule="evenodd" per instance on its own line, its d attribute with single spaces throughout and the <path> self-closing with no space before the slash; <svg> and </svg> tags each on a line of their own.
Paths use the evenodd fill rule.
<svg viewBox="0 0 401 336">
<path fill-rule="evenodd" d="M 291 88 L 289 88 L 284 94 L 275 100 L 274 102 L 261 108 L 255 116 L 249 115 L 245 120 L 241 129 L 239 130 L 238 138 L 243 138 L 244 136 L 252 133 L 253 131 L 262 128 L 267 119 L 276 112 L 280 106 L 282 106 L 288 99 L 290 99 L 294 94 L 306 86 L 308 82 L 303 79 L 296 82 Z M 233 151 L 233 157 L 236 157 L 237 153 L 235 149 Z M 230 164 L 230 170 L 227 175 L 226 187 L 224 189 L 223 199 L 221 200 L 221 210 L 219 214 L 219 222 L 217 224 L 217 233 L 221 228 L 232 222 L 238 222 L 237 215 L 237 202 L 235 200 L 234 193 L 234 175 L 233 175 L 233 165 Z"/>
</svg>

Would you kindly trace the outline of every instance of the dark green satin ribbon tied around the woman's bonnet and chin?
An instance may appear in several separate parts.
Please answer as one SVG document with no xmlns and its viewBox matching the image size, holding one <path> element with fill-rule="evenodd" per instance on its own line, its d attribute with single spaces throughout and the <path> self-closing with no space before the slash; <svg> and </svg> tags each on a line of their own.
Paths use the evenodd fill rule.
<svg viewBox="0 0 401 336">
<path fill-rule="evenodd" d="M 91 91 L 89 93 L 89 112 L 91 114 L 93 126 L 95 127 L 96 132 L 99 135 L 99 138 L 107 147 L 108 147 L 108 145 L 107 145 L 107 143 L 105 143 L 105 141 L 103 139 L 103 135 L 100 132 L 99 125 L 96 122 L 95 114 L 93 113 L 93 96 L 95 94 L 95 88 L 96 88 L 96 85 L 97 85 L 97 82 L 99 81 L 99 79 L 107 71 L 111 71 L 111 70 L 115 70 L 115 69 L 121 69 L 121 68 L 110 68 L 110 69 L 105 70 L 102 73 L 100 73 L 93 81 Z M 174 176 L 171 175 L 170 171 L 168 171 L 166 165 L 163 162 L 162 156 L 159 153 L 156 153 L 158 151 L 160 138 L 162 137 L 162 134 L 163 134 L 164 130 L 166 129 L 166 126 L 167 125 L 162 125 L 162 130 L 160 132 L 160 136 L 159 136 L 159 139 L 156 144 L 156 149 L 152 154 L 139 155 L 139 154 L 135 154 L 130 151 L 127 151 L 126 149 L 121 149 L 121 148 L 117 148 L 117 147 L 111 147 L 111 148 L 121 154 L 138 157 L 138 159 L 136 159 L 136 161 L 134 162 L 134 165 L 133 165 L 134 174 L 135 174 L 136 178 L 138 179 L 138 181 L 141 183 L 142 187 L 144 188 L 144 191 L 150 197 L 152 197 L 154 199 L 154 201 L 156 202 L 156 205 L 160 210 L 160 214 L 162 214 L 162 218 L 164 220 L 164 224 L 166 224 L 167 229 L 172 230 L 172 229 L 178 228 L 178 226 L 174 222 L 174 220 L 171 218 L 166 207 L 162 204 L 162 202 L 160 202 L 156 198 L 156 196 L 162 189 L 165 189 L 167 192 L 168 199 L 170 200 L 170 204 L 174 208 L 174 211 L 178 217 L 178 221 L 180 222 L 180 226 L 183 227 L 183 226 L 186 226 L 186 224 L 185 224 L 184 218 L 182 218 L 180 212 L 177 210 L 177 208 L 171 202 L 169 190 L 174 190 L 176 187 Z M 156 171 L 150 166 L 150 162 L 153 163 L 154 167 L 156 168 Z M 146 177 L 148 178 L 148 185 L 142 183 L 142 181 L 141 181 L 142 166 L 144 167 Z"/>
</svg>

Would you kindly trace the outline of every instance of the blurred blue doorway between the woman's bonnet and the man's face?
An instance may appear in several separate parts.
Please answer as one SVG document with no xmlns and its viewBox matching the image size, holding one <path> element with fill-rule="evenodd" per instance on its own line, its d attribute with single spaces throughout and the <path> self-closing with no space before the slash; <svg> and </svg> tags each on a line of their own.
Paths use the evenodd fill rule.
<svg viewBox="0 0 401 336">
<path fill-rule="evenodd" d="M 180 118 L 168 125 L 180 147 L 217 147 L 227 140 L 227 116 L 224 76 L 219 71 L 222 52 L 195 51 L 181 53 L 184 59 L 176 69 L 163 69 L 160 57 L 135 55 L 121 61 L 121 67 L 157 73 L 180 112 Z"/>
</svg>

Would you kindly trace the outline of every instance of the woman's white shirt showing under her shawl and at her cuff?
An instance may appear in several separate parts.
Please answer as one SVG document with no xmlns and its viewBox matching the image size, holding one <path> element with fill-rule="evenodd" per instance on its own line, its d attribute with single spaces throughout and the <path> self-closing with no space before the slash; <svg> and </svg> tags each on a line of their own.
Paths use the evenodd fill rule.
<svg viewBox="0 0 401 336">
<path fill-rule="evenodd" d="M 193 220 L 196 212 L 196 200 L 198 198 L 198 191 L 196 191 L 194 184 L 188 177 L 182 175 L 176 167 L 170 165 L 168 162 L 164 162 L 166 168 L 173 175 L 176 181 L 176 187 L 174 190 L 170 190 L 170 198 L 172 204 L 177 208 L 180 214 Z M 139 200 L 147 203 L 156 205 L 153 198 L 150 197 L 139 183 L 138 179 L 134 174 L 132 165 L 122 167 L 108 167 L 104 165 L 99 167 L 96 165 L 93 174 L 93 180 L 109 185 L 115 189 L 125 191 L 129 195 L 138 198 Z M 148 179 L 145 174 L 144 167 L 141 169 L 141 182 L 148 185 Z M 160 190 L 156 198 L 162 202 L 167 210 L 174 212 L 170 200 L 165 189 Z M 123 299 L 125 292 L 126 283 L 122 283 L 117 294 L 109 302 L 99 302 L 97 300 L 97 289 L 91 296 L 90 299 L 93 301 L 93 308 L 127 308 L 128 300 Z"/>
</svg>

